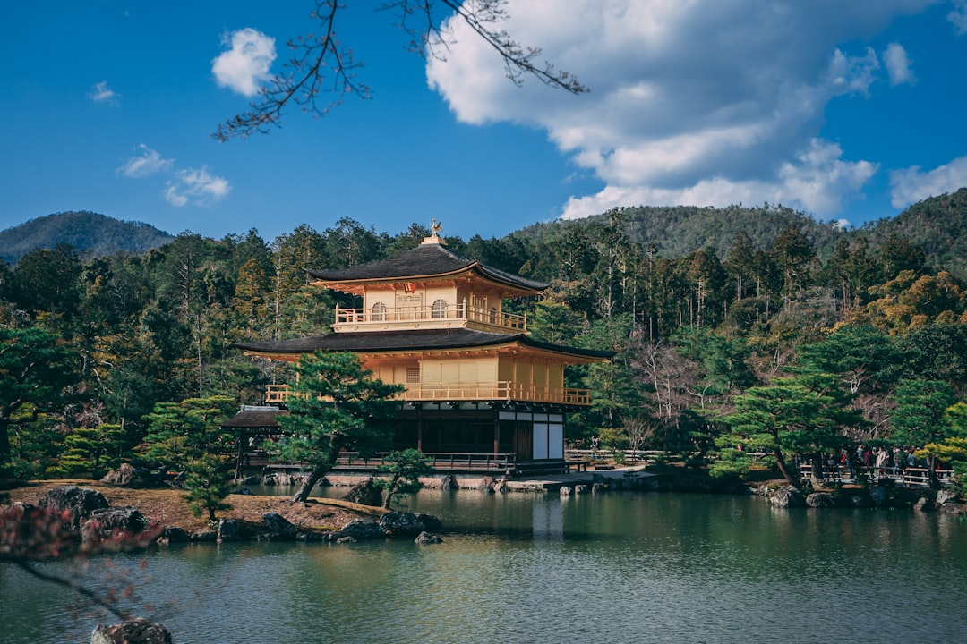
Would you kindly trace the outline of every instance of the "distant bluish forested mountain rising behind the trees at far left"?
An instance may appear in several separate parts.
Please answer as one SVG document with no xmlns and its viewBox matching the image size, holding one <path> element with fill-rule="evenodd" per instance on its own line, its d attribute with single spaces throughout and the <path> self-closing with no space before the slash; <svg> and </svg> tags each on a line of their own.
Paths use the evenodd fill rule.
<svg viewBox="0 0 967 644">
<path fill-rule="evenodd" d="M 143 253 L 171 238 L 148 224 L 118 221 L 97 212 L 58 212 L 0 232 L 0 259 L 16 264 L 35 248 L 53 248 L 59 243 L 70 245 L 84 257 L 123 250 Z"/>
</svg>

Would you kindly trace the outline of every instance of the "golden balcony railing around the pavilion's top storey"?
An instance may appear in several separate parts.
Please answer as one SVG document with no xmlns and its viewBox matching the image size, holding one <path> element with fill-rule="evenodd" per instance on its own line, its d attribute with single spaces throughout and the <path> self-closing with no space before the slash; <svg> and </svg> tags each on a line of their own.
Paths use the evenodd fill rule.
<svg viewBox="0 0 967 644">
<path fill-rule="evenodd" d="M 527 331 L 527 316 L 501 313 L 496 309 L 483 309 L 467 304 L 448 304 L 431 306 L 399 306 L 384 309 L 343 309 L 336 307 L 336 328 L 343 330 L 348 326 L 373 324 L 388 326 L 432 327 L 454 325 L 459 322 L 478 322 L 498 326 L 513 331 Z"/>
</svg>

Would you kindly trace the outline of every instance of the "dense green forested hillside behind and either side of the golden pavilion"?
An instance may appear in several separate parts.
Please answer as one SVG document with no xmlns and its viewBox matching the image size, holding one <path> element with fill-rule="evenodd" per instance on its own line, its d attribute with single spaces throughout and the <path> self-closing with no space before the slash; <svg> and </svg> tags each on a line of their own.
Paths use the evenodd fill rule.
<svg viewBox="0 0 967 644">
<path fill-rule="evenodd" d="M 956 442 L 967 436 L 967 286 L 949 270 L 963 255 L 948 264 L 943 253 L 963 243 L 963 201 L 848 233 L 772 207 L 671 209 L 667 221 L 624 209 L 447 242 L 551 284 L 508 303 L 537 339 L 615 352 L 569 375 L 593 391 L 569 421 L 577 444 L 687 453 L 731 474 L 748 448 L 780 463 L 858 442 L 956 463 L 967 462 Z M 177 437 L 159 429 L 172 405 L 262 402 L 290 374 L 232 343 L 327 332 L 334 304 L 354 302 L 308 286 L 308 269 L 428 234 L 341 219 L 271 240 L 185 233 L 140 256 L 60 245 L 0 265 L 0 462 L 36 476 L 150 460 L 152 441 Z"/>
</svg>

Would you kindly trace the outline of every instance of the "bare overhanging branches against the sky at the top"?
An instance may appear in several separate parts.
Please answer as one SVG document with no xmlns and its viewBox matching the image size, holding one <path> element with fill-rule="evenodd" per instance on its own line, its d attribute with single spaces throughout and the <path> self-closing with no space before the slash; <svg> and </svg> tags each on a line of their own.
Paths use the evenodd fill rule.
<svg viewBox="0 0 967 644">
<path fill-rule="evenodd" d="M 363 64 L 353 57 L 352 49 L 337 39 L 337 17 L 345 9 L 338 0 L 314 0 L 310 14 L 319 22 L 319 33 L 298 36 L 286 44 L 293 51 L 280 73 L 273 76 L 249 103 L 249 110 L 222 123 L 212 135 L 219 141 L 246 138 L 266 133 L 279 126 L 285 108 L 290 104 L 304 111 L 324 116 L 355 95 L 371 98 L 369 87 L 357 79 Z M 541 49 L 513 40 L 500 27 L 508 18 L 507 0 L 388 0 L 380 11 L 396 15 L 399 26 L 412 38 L 410 49 L 422 56 L 446 60 L 452 34 L 445 28 L 447 17 L 462 20 L 473 32 L 500 54 L 507 75 L 514 84 L 525 76 L 533 76 L 543 84 L 571 94 L 587 92 L 587 88 L 568 71 L 555 70 L 550 63 L 539 62 Z M 328 98 L 322 98 L 326 95 Z"/>
</svg>

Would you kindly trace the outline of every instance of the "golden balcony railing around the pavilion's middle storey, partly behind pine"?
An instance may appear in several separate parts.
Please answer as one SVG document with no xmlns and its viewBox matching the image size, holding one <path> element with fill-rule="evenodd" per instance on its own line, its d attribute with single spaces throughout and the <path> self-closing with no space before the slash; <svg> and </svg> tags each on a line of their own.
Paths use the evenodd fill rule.
<svg viewBox="0 0 967 644">
<path fill-rule="evenodd" d="M 270 384 L 266 387 L 266 404 L 278 405 L 288 402 L 293 392 L 287 384 Z M 557 405 L 589 406 L 590 389 L 572 387 L 547 387 L 520 384 L 510 380 L 484 382 L 433 382 L 408 383 L 406 391 L 396 396 L 406 402 L 459 402 L 459 401 L 517 401 L 521 403 L 553 403 Z"/>
</svg>

